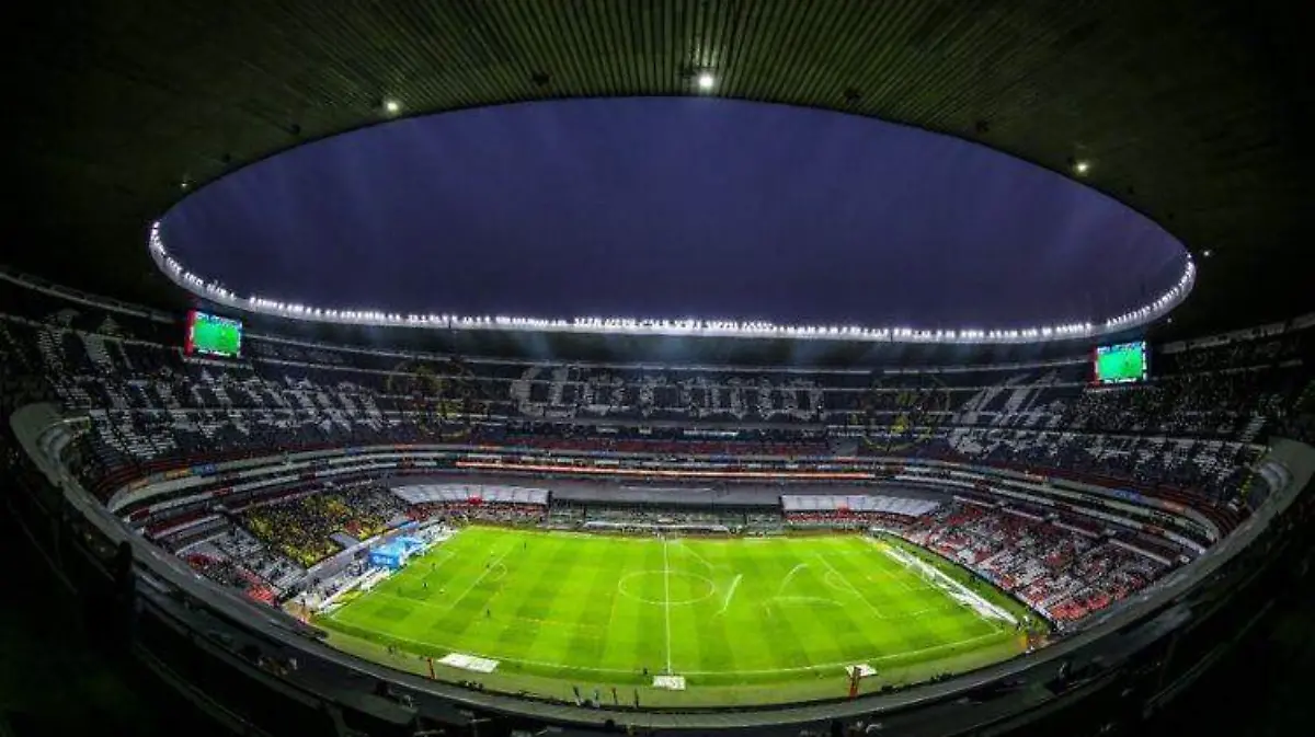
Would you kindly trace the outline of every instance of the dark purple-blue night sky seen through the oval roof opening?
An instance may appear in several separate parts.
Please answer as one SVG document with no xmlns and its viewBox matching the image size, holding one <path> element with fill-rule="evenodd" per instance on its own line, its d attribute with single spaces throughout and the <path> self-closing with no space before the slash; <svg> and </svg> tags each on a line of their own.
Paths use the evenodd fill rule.
<svg viewBox="0 0 1315 737">
<path fill-rule="evenodd" d="M 1094 322 L 1186 257 L 985 147 L 700 97 L 379 125 L 203 188 L 163 236 L 238 294 L 322 307 L 927 328 Z"/>
</svg>

